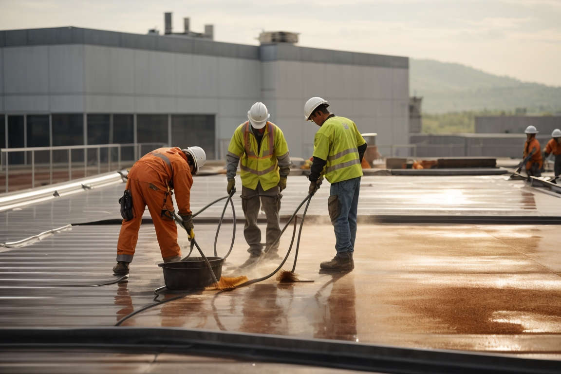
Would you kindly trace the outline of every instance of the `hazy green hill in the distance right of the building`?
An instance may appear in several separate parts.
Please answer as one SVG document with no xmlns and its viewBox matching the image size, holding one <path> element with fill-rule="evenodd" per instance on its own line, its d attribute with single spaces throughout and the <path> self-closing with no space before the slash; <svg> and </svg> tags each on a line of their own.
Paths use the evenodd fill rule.
<svg viewBox="0 0 561 374">
<path fill-rule="evenodd" d="M 561 111 L 561 87 L 522 82 L 457 63 L 413 58 L 409 62 L 410 93 L 423 96 L 424 113 L 516 108 Z"/>
</svg>

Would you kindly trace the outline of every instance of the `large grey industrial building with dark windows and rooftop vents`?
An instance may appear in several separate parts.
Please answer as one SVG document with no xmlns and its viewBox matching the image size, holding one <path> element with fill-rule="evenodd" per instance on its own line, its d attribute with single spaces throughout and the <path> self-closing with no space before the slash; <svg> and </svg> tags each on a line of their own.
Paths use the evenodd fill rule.
<svg viewBox="0 0 561 374">
<path fill-rule="evenodd" d="M 317 127 L 303 108 L 316 95 L 361 132 L 378 133 L 379 144 L 408 143 L 408 58 L 299 47 L 294 33 L 222 43 L 212 25 L 193 33 L 188 24 L 183 33 L 166 25 L 163 35 L 0 31 L 2 147 L 200 145 L 221 159 L 251 104 L 263 101 L 291 155 L 309 157 Z"/>
</svg>

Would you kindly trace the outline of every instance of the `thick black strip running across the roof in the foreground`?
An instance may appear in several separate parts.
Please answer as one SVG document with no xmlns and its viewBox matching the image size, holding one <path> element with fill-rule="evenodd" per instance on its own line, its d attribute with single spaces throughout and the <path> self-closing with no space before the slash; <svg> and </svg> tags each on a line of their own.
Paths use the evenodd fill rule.
<svg viewBox="0 0 561 374">
<path fill-rule="evenodd" d="M 341 340 L 137 327 L 0 329 L 0 349 L 174 352 L 390 373 L 558 373 L 559 361 Z"/>
</svg>

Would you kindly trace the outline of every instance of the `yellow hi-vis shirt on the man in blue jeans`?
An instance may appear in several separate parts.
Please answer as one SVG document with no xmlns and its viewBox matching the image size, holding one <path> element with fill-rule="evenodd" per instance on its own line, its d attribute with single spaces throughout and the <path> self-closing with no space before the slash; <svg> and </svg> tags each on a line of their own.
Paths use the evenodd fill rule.
<svg viewBox="0 0 561 374">
<path fill-rule="evenodd" d="M 325 179 L 337 183 L 362 177 L 357 148 L 365 143 L 355 122 L 345 117 L 328 118 L 314 137 L 314 156 L 327 160 Z"/>
</svg>

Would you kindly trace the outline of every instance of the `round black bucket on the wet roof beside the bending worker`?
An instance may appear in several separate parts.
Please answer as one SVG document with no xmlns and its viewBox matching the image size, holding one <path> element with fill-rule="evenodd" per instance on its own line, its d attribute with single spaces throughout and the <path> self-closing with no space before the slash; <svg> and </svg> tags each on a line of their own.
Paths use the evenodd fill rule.
<svg viewBox="0 0 561 374">
<path fill-rule="evenodd" d="M 206 256 L 216 279 L 222 275 L 224 257 Z M 165 287 L 170 290 L 201 289 L 214 283 L 203 257 L 189 257 L 185 261 L 162 262 Z"/>
</svg>

